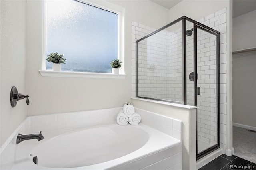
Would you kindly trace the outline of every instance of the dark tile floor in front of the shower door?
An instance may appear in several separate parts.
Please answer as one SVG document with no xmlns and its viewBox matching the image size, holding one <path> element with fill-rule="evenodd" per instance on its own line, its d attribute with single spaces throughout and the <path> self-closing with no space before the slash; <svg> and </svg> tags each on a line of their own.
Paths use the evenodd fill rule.
<svg viewBox="0 0 256 170">
<path fill-rule="evenodd" d="M 256 164 L 238 156 L 222 154 L 199 170 L 256 170 Z"/>
</svg>

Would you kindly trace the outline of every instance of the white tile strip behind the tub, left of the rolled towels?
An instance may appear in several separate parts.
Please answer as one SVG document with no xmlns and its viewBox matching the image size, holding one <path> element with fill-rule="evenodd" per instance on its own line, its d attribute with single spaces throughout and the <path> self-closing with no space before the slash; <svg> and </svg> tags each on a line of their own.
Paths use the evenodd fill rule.
<svg viewBox="0 0 256 170">
<path fill-rule="evenodd" d="M 31 133 L 49 132 L 63 130 L 66 128 L 78 128 L 102 123 L 114 122 L 116 115 L 122 107 L 111 109 L 100 109 L 92 111 L 79 111 L 70 113 L 57 113 L 51 115 L 40 115 L 28 117 Z"/>
</svg>

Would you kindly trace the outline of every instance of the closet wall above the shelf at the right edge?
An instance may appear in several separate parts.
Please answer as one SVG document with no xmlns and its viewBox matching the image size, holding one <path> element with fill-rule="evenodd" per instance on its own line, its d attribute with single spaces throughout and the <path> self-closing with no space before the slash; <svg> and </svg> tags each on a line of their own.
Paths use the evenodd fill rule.
<svg viewBox="0 0 256 170">
<path fill-rule="evenodd" d="M 256 47 L 256 10 L 233 18 L 233 51 Z"/>
</svg>

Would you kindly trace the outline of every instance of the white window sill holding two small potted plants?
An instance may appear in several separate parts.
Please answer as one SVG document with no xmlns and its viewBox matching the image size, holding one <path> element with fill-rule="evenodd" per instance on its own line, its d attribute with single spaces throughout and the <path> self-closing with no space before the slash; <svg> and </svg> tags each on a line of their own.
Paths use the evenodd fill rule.
<svg viewBox="0 0 256 170">
<path fill-rule="evenodd" d="M 76 78 L 98 78 L 98 79 L 124 79 L 126 74 L 111 73 L 84 73 L 71 71 L 49 71 L 39 70 L 43 77 L 76 77 Z"/>
</svg>

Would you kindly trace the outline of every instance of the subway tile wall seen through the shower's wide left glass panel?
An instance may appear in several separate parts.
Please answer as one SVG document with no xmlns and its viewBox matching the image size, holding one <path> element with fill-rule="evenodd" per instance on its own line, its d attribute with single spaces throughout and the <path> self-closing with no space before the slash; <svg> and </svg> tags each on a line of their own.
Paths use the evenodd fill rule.
<svg viewBox="0 0 256 170">
<path fill-rule="evenodd" d="M 138 43 L 138 96 L 182 102 L 181 24 Z"/>
</svg>

